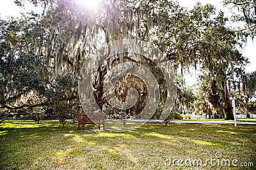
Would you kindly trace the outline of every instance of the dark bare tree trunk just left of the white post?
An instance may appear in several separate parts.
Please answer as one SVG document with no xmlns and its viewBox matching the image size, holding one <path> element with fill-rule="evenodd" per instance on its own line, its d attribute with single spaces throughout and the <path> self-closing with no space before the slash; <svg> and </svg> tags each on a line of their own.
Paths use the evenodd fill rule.
<svg viewBox="0 0 256 170">
<path fill-rule="evenodd" d="M 234 120 L 232 105 L 229 99 L 229 94 L 228 94 L 227 85 L 225 81 L 222 83 L 222 87 L 223 87 L 222 94 L 224 98 L 225 120 Z"/>
</svg>

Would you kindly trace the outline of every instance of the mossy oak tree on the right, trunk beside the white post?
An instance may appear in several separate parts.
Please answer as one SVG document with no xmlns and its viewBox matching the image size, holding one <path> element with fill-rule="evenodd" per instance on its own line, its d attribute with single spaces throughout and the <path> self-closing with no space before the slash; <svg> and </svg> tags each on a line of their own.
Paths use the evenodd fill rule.
<svg viewBox="0 0 256 170">
<path fill-rule="evenodd" d="M 225 27 L 227 18 L 223 17 L 222 12 L 210 19 L 215 11 L 211 5 L 198 4 L 191 11 L 181 11 L 183 12 L 179 13 L 179 18 L 172 15 L 163 27 L 159 27 L 162 29 L 159 32 L 166 33 L 160 34 L 160 38 L 155 41 L 159 46 L 164 46 L 163 49 L 166 49 L 167 56 L 173 60 L 177 69 L 181 67 L 182 71 L 184 67 L 200 66 L 207 71 L 207 76 L 215 82 L 215 89 L 223 97 L 225 119 L 233 119 L 227 73 L 228 69 L 243 66 L 246 61 L 236 49 L 236 45 L 239 45 L 236 32 Z M 211 87 L 209 86 L 209 90 L 214 91 Z M 220 106 L 219 100 L 211 102 L 214 107 Z"/>
</svg>

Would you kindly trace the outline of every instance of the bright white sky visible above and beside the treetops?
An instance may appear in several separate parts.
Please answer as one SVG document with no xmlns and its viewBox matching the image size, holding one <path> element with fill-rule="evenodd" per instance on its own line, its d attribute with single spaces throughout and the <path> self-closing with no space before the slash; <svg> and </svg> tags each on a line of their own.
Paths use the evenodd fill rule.
<svg viewBox="0 0 256 170">
<path fill-rule="evenodd" d="M 83 1 L 83 0 L 80 0 Z M 85 0 L 84 0 L 85 1 Z M 93 0 L 90 0 L 93 1 Z M 187 8 L 193 8 L 195 4 L 198 2 L 197 0 L 177 0 L 182 4 L 182 6 L 185 6 Z M 203 5 L 207 3 L 211 3 L 214 6 L 216 6 L 217 10 L 223 10 L 221 0 L 199 0 Z M 24 1 L 26 2 L 26 1 Z M 25 9 L 20 8 L 19 6 L 16 6 L 14 3 L 14 0 L 0 0 L 0 17 L 7 17 L 7 16 L 13 16 L 18 17 L 20 16 L 20 12 L 26 13 L 26 11 L 30 11 L 33 9 L 33 6 L 29 6 L 28 3 L 25 6 Z M 230 15 L 230 12 L 228 9 L 223 10 L 225 12 L 225 15 Z M 246 47 L 242 51 L 243 55 L 247 57 L 251 64 L 246 67 L 246 72 L 252 72 L 256 70 L 256 44 L 252 42 L 252 39 L 248 39 L 248 43 Z"/>
</svg>

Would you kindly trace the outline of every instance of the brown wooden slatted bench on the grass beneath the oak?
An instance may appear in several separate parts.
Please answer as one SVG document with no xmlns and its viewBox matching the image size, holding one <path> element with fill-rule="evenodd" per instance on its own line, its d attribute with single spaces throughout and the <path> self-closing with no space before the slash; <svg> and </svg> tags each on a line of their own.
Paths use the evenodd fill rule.
<svg viewBox="0 0 256 170">
<path fill-rule="evenodd" d="M 100 114 L 77 114 L 77 120 L 78 130 L 84 130 L 86 124 L 96 124 L 99 129 L 100 124 L 102 124 L 103 129 L 105 129 L 104 118 L 100 118 Z"/>
</svg>

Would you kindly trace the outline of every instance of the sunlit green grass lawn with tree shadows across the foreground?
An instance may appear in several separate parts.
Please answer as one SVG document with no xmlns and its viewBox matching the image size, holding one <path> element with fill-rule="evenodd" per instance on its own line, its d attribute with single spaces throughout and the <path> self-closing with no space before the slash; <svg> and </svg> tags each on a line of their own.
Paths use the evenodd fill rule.
<svg viewBox="0 0 256 170">
<path fill-rule="evenodd" d="M 256 169 L 255 125 L 145 124 L 129 132 L 77 131 L 74 126 L 4 121 L 0 169 Z M 230 167 L 225 162 L 221 167 L 224 159 Z M 203 166 L 193 167 L 200 160 Z M 254 167 L 239 167 L 241 162 Z"/>
</svg>

